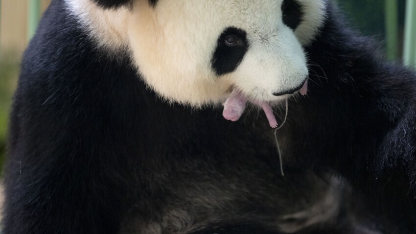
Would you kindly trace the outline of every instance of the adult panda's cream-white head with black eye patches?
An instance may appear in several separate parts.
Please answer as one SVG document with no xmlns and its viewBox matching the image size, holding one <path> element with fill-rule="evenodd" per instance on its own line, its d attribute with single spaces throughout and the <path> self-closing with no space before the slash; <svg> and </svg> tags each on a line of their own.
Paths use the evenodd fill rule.
<svg viewBox="0 0 416 234">
<path fill-rule="evenodd" d="M 66 1 L 98 46 L 127 48 L 149 87 L 193 106 L 298 91 L 325 14 L 325 0 Z"/>
</svg>

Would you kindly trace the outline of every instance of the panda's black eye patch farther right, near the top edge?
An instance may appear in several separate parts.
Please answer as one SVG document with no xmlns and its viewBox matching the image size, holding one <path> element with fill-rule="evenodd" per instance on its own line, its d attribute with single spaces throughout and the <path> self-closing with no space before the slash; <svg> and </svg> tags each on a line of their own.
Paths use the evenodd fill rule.
<svg viewBox="0 0 416 234">
<path fill-rule="evenodd" d="M 281 8 L 283 23 L 295 30 L 302 22 L 302 5 L 296 0 L 284 0 Z"/>
</svg>

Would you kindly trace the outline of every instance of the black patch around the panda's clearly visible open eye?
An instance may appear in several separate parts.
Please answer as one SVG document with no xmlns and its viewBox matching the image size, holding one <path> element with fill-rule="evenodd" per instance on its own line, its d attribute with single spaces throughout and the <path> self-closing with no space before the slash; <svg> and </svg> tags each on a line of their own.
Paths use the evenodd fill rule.
<svg viewBox="0 0 416 234">
<path fill-rule="evenodd" d="M 217 47 L 211 59 L 212 69 L 217 75 L 235 70 L 244 58 L 249 44 L 247 33 L 239 28 L 226 28 L 217 40 Z"/>
</svg>

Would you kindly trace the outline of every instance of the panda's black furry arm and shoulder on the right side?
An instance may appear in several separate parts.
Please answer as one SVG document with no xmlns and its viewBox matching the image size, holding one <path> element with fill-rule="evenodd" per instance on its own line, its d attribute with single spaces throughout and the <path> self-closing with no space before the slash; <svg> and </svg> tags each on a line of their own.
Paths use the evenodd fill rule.
<svg viewBox="0 0 416 234">
<path fill-rule="evenodd" d="M 308 96 L 289 112 L 299 143 L 292 152 L 303 166 L 340 173 L 393 218 L 415 215 L 415 72 L 386 62 L 328 7 L 307 48 Z"/>
</svg>

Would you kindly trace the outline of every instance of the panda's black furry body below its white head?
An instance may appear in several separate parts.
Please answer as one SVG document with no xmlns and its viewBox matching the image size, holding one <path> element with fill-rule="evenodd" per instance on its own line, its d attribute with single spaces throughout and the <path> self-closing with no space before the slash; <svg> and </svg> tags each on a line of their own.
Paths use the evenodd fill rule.
<svg viewBox="0 0 416 234">
<path fill-rule="evenodd" d="M 3 233 L 116 234 L 146 224 L 184 231 L 164 219 L 171 209 L 193 217 L 189 233 L 283 233 L 278 218 L 323 197 L 327 173 L 362 194 L 371 228 L 415 232 L 415 74 L 380 59 L 335 9 L 305 48 L 308 96 L 290 101 L 278 131 L 285 177 L 263 114 L 231 123 L 221 110 L 164 103 L 127 56 L 102 54 L 65 9 L 52 1 L 24 54 Z M 300 232 L 357 230 L 334 219 Z"/>
</svg>

